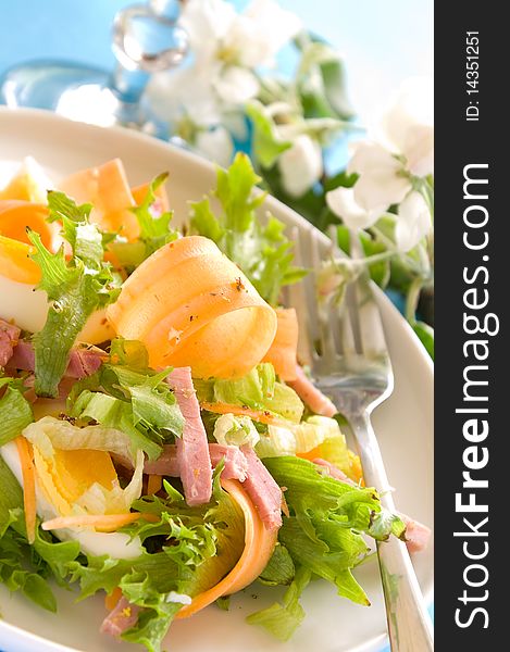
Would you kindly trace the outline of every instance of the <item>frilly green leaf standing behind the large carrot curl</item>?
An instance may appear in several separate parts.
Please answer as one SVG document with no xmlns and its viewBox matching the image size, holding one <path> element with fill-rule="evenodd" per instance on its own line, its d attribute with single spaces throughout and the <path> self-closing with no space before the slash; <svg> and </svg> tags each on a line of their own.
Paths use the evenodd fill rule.
<svg viewBox="0 0 510 652">
<path fill-rule="evenodd" d="M 266 193 L 254 193 L 261 180 L 250 159 L 239 152 L 228 170 L 217 168 L 216 189 L 222 212 L 216 215 L 209 197 L 191 203 L 191 230 L 214 240 L 248 276 L 259 293 L 276 305 L 281 289 L 300 280 L 307 272 L 293 266 L 293 244 L 284 224 L 269 216 L 261 224 L 256 211 Z"/>
</svg>

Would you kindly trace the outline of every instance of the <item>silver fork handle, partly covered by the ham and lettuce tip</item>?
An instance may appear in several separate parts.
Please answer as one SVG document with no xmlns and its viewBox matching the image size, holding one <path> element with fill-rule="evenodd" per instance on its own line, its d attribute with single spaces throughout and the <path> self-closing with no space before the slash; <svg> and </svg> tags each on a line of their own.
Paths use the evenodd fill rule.
<svg viewBox="0 0 510 652">
<path fill-rule="evenodd" d="M 395 513 L 370 414 L 351 416 L 349 421 L 359 444 L 365 484 L 375 487 L 382 505 Z M 388 541 L 377 542 L 377 555 L 391 651 L 431 652 L 434 650 L 433 626 L 406 544 L 390 537 Z"/>
</svg>

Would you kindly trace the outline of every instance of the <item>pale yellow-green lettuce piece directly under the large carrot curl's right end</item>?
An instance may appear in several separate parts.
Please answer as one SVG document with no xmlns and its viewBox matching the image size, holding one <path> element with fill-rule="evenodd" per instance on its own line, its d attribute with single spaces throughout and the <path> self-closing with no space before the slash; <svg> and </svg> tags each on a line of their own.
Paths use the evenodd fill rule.
<svg viewBox="0 0 510 652">
<path fill-rule="evenodd" d="M 304 411 L 304 405 L 294 389 L 276 380 L 274 367 L 269 362 L 257 365 L 242 378 L 196 379 L 194 384 L 202 402 L 246 405 L 294 423 L 301 421 Z"/>
</svg>

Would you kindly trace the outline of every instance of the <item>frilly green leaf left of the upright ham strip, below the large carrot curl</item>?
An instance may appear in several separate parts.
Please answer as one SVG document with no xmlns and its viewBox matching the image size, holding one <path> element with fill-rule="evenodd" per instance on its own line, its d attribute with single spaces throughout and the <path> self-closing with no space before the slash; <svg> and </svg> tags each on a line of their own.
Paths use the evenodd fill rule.
<svg viewBox="0 0 510 652">
<path fill-rule="evenodd" d="M 171 369 L 154 372 L 146 362 L 141 342 L 113 340 L 110 362 L 73 386 L 67 410 L 73 417 L 125 432 L 133 457 L 142 450 L 156 460 L 163 443 L 181 437 L 184 417 L 165 381 Z"/>
</svg>

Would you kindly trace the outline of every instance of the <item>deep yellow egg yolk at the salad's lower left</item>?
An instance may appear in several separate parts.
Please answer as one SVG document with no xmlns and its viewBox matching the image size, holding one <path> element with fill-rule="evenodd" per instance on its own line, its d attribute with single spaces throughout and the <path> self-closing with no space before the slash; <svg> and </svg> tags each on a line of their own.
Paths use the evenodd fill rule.
<svg viewBox="0 0 510 652">
<path fill-rule="evenodd" d="M 111 490 L 117 480 L 109 453 L 55 449 L 51 459 L 34 448 L 37 478 L 46 498 L 59 514 L 71 514 L 73 504 L 96 482 Z"/>
</svg>

